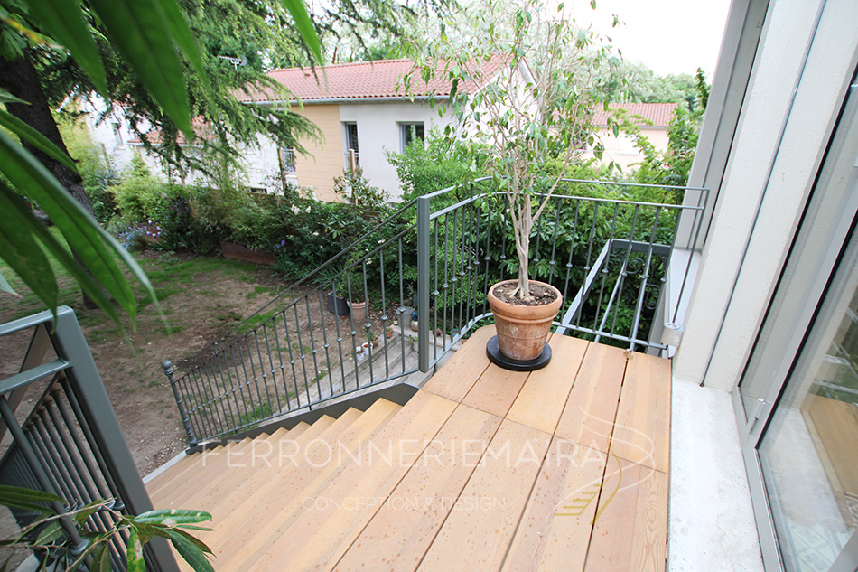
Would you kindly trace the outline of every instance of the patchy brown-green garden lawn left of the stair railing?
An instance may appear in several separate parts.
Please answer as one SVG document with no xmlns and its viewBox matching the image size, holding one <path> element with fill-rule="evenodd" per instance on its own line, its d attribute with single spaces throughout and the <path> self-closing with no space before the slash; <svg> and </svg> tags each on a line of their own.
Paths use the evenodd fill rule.
<svg viewBox="0 0 858 572">
<path fill-rule="evenodd" d="M 61 304 L 69 305 L 78 315 L 137 468 L 145 475 L 186 445 L 161 362 L 171 360 L 181 366 L 271 300 L 284 282 L 269 267 L 223 258 L 152 250 L 136 256 L 152 281 L 163 314 L 145 301 L 143 289 L 136 286 L 140 311 L 135 332 L 127 317 L 123 333 L 104 313 L 85 309 L 74 282 L 61 274 L 57 265 L 54 269 L 61 286 Z M 2 261 L 0 272 L 20 295 L 0 292 L 0 323 L 44 309 Z M 29 338 L 24 336 L 3 338 L 0 378 L 18 371 L 27 342 Z M 19 414 L 25 416 L 31 408 L 32 400 L 24 401 Z"/>
</svg>

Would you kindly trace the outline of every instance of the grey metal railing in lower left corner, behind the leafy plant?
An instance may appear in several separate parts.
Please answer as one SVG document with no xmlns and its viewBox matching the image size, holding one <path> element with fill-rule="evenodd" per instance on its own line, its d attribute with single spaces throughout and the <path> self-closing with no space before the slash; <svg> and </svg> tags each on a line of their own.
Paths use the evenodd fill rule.
<svg viewBox="0 0 858 572">
<path fill-rule="evenodd" d="M 0 483 L 52 492 L 67 502 L 53 507 L 59 512 L 98 500 L 112 500 L 113 510 L 125 514 L 151 511 L 152 502 L 74 312 L 61 306 L 56 318 L 42 312 L 0 325 L 4 345 L 14 345 L 12 338 L 26 335 L 29 343 L 20 371 L 0 380 L 0 436 L 5 436 Z M 5 347 L 8 358 L 9 346 Z M 27 415 L 16 415 L 25 395 L 34 398 L 34 406 Z M 18 509 L 12 512 L 21 526 L 36 516 Z M 83 529 L 110 530 L 115 518 L 96 511 Z M 61 525 L 74 547 L 72 552 L 82 550 L 86 540 L 76 526 L 67 517 Z M 127 540 L 126 533 L 120 532 L 110 541 L 113 570 L 126 570 Z M 144 556 L 147 570 L 179 569 L 163 539 L 147 544 Z"/>
</svg>

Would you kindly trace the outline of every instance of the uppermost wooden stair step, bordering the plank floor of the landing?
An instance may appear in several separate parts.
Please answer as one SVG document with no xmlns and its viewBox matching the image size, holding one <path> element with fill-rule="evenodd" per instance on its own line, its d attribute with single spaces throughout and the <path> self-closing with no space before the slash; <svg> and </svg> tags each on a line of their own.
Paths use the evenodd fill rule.
<svg viewBox="0 0 858 572">
<path fill-rule="evenodd" d="M 290 506 L 270 523 L 273 532 L 253 555 L 239 558 L 240 567 L 252 570 L 309 569 L 331 547 L 341 541 L 370 511 L 378 510 L 374 500 L 382 499 L 396 487 L 410 464 L 422 453 L 452 415 L 456 404 L 450 399 L 420 391 L 360 451 L 359 460 L 343 465 L 342 471 L 320 489 L 308 487 L 299 498 L 312 502 Z M 319 502 L 350 502 L 343 511 L 320 510 Z M 324 508 L 324 507 L 321 507 Z M 252 564 L 252 566 L 248 566 Z"/>
</svg>

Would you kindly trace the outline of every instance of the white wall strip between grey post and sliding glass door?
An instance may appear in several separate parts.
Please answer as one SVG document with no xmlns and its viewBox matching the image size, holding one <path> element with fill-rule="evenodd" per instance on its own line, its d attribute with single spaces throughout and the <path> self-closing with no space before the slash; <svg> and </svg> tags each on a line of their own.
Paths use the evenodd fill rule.
<svg viewBox="0 0 858 572">
<path fill-rule="evenodd" d="M 829 0 L 815 34 L 823 4 L 770 2 L 674 360 L 679 379 L 735 387 L 768 306 L 858 48 L 858 4 Z"/>
</svg>

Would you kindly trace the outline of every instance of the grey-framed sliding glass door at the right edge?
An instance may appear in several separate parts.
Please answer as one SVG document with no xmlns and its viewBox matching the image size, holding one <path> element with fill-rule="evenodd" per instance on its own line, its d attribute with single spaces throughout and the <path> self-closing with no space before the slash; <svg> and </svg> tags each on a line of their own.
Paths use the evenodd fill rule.
<svg viewBox="0 0 858 572">
<path fill-rule="evenodd" d="M 858 97 L 735 392 L 767 570 L 858 570 Z"/>
</svg>

